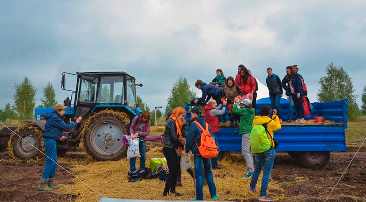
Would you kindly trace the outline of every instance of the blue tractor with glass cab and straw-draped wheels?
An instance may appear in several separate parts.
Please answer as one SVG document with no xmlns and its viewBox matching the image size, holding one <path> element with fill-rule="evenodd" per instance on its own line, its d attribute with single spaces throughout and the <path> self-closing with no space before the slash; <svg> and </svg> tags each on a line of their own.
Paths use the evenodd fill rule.
<svg viewBox="0 0 366 202">
<path fill-rule="evenodd" d="M 66 89 L 66 77 L 76 77 L 75 90 Z M 130 120 L 140 109 L 136 103 L 135 78 L 124 71 L 88 71 L 76 74 L 62 73 L 61 88 L 71 91 L 71 99 L 64 100 L 64 120 L 74 122 L 83 118 L 77 128 L 64 132 L 66 141 L 58 141 L 58 154 L 75 150 L 80 142 L 96 160 L 118 160 L 126 156 L 122 136 L 128 134 Z M 74 99 L 73 99 L 74 96 Z M 73 104 L 71 103 L 73 101 Z M 42 132 L 46 121 L 43 116 L 53 108 L 36 108 L 35 120 L 24 120 L 25 126 L 17 133 L 42 149 Z M 16 135 L 11 136 L 13 153 L 20 159 L 35 159 L 39 152 Z"/>
</svg>

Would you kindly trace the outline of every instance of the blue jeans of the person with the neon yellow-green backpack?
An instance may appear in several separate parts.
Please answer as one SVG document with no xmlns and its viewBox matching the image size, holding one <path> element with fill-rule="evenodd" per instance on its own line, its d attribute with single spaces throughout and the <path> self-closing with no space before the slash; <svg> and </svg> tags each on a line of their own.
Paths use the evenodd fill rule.
<svg viewBox="0 0 366 202">
<path fill-rule="evenodd" d="M 260 190 L 260 196 L 267 197 L 267 189 L 269 183 L 269 176 L 272 172 L 273 164 L 275 164 L 276 151 L 275 148 L 270 148 L 263 153 L 254 154 L 254 165 L 255 169 L 252 176 L 252 181 L 250 183 L 250 189 L 255 190 L 259 174 L 262 171 L 263 166 L 263 178 L 262 187 Z"/>
</svg>

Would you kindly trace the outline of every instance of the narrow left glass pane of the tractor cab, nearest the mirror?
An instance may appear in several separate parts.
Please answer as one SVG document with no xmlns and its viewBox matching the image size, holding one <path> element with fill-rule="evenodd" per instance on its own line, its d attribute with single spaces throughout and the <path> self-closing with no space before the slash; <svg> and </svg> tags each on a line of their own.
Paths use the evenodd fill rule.
<svg viewBox="0 0 366 202">
<path fill-rule="evenodd" d="M 83 76 L 81 79 L 80 101 L 95 102 L 97 94 L 98 79 L 89 76 Z"/>
</svg>

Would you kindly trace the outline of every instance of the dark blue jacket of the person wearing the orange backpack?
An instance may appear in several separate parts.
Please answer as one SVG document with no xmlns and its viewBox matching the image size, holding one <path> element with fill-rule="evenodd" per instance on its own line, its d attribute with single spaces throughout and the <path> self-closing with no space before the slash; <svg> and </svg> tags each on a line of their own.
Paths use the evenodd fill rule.
<svg viewBox="0 0 366 202">
<path fill-rule="evenodd" d="M 190 122 L 190 126 L 188 128 L 188 134 L 186 137 L 186 153 L 189 151 L 192 151 L 193 154 L 198 154 L 198 148 L 197 145 L 201 145 L 201 134 L 202 130 L 199 128 L 199 126 L 196 123 L 193 123 L 194 120 L 197 120 L 203 128 L 206 127 L 205 119 L 203 116 L 193 118 Z M 211 127 L 208 125 L 208 130 L 210 134 L 212 135 Z M 197 143 L 197 145 L 196 145 Z M 215 138 L 216 145 L 219 145 L 217 142 L 217 139 Z"/>
</svg>

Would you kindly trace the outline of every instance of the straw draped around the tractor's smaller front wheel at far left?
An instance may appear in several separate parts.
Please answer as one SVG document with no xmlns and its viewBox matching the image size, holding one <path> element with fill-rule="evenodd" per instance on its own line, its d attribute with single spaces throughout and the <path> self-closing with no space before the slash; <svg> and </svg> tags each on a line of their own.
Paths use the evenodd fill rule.
<svg viewBox="0 0 366 202">
<path fill-rule="evenodd" d="M 20 126 L 18 126 L 17 129 L 14 130 L 15 133 L 18 133 L 19 131 L 23 130 L 23 129 L 30 129 L 31 131 L 35 132 L 39 139 L 40 139 L 40 145 L 41 145 L 41 148 L 40 150 L 42 152 L 45 152 L 44 150 L 44 147 L 43 147 L 43 137 L 42 137 L 42 130 L 34 125 L 34 124 L 30 124 L 30 123 L 26 123 L 26 124 L 22 124 Z M 12 132 L 10 133 L 10 138 L 9 138 L 9 141 L 8 141 L 8 148 L 7 148 L 7 153 L 9 154 L 9 159 L 10 161 L 21 161 L 19 158 L 17 158 L 15 155 L 14 155 L 14 152 L 13 152 L 13 138 L 14 138 L 15 134 Z M 41 160 L 44 159 L 44 156 L 42 157 L 37 157 L 36 159 L 27 159 L 26 161 L 28 162 L 39 162 Z"/>
</svg>

